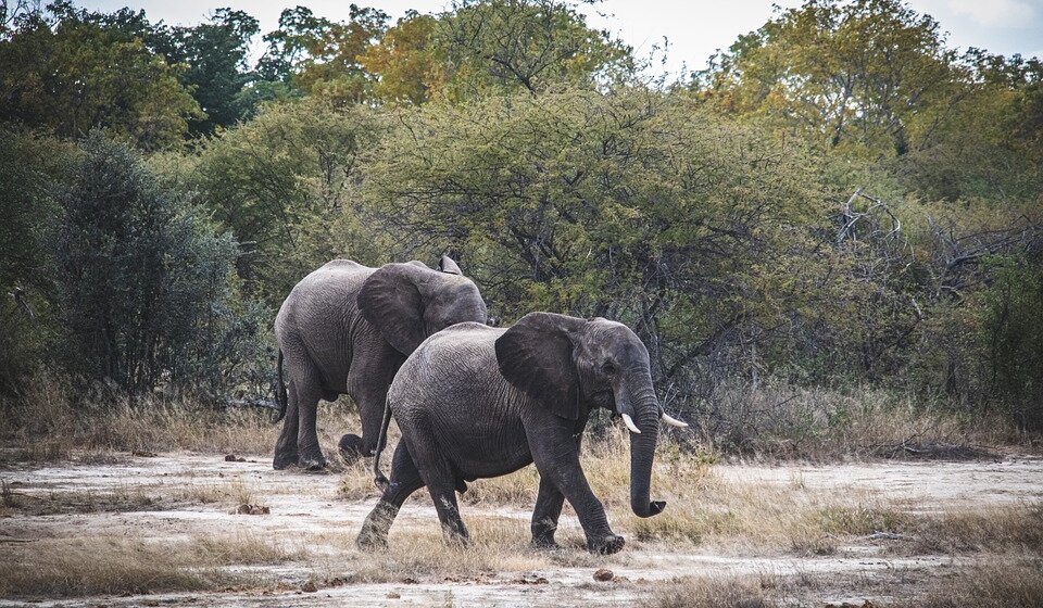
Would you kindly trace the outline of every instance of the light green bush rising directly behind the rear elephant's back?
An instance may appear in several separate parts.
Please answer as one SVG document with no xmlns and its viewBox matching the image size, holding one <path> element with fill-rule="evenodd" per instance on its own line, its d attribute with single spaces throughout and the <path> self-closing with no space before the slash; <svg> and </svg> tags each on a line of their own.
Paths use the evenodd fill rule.
<svg viewBox="0 0 1043 608">
<path fill-rule="evenodd" d="M 356 208 L 360 159 L 380 128 L 363 106 L 269 105 L 176 172 L 242 243 L 239 276 L 277 307 L 301 277 L 334 257 L 386 258 Z"/>
</svg>

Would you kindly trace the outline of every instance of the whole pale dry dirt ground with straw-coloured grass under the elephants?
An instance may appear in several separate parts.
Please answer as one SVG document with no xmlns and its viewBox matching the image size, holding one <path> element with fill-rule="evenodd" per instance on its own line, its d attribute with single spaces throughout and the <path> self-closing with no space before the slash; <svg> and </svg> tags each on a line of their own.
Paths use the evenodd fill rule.
<svg viewBox="0 0 1043 608">
<path fill-rule="evenodd" d="M 897 509 L 895 512 L 926 517 L 963 508 L 980 511 L 985 506 L 1038 509 L 1043 498 L 1043 459 L 1030 457 L 970 463 L 715 465 L 705 473 L 705 486 L 693 492 L 726 491 L 737 503 L 722 507 L 729 511 L 722 519 L 700 528 L 705 537 L 689 534 L 686 540 L 682 530 L 668 534 L 668 540 L 648 534 L 642 540 L 642 523 L 633 521 L 620 505 L 610 504 L 610 521 L 628 540 L 623 553 L 608 557 L 586 554 L 579 547 L 581 533 L 570 511 L 563 516 L 558 533 L 565 548 L 538 552 L 526 543 L 530 505 L 525 506 L 524 498 L 500 504 L 489 498 L 462 504 L 476 546 L 449 549 L 440 543 L 429 497 L 419 492 L 395 521 L 391 548 L 367 555 L 353 546 L 376 496 L 366 487 L 366 478 L 361 466 L 339 473 L 306 474 L 272 470 L 262 457 L 226 461 L 223 455 L 193 453 L 139 454 L 108 464 L 7 465 L 0 469 L 4 483 L 0 572 L 5 573 L 0 575 L 22 572 L 18 563 L 36 563 L 48 550 L 65 552 L 78 560 L 106 560 L 106 550 L 118 549 L 122 558 L 129 555 L 131 560 L 148 561 L 166 550 L 191 556 L 197 550 L 193 547 L 205 544 L 213 571 L 242 578 L 223 588 L 156 592 L 146 582 L 140 591 L 148 593 L 86 596 L 75 591 L 73 581 L 58 587 L 65 590 L 59 592 L 65 596 L 61 599 L 49 598 L 48 592 L 20 590 L 8 581 L 11 593 L 0 598 L 0 606 L 32 601 L 34 606 L 109 607 L 530 607 L 629 606 L 636 600 L 654 605 L 657 591 L 693 575 L 740 577 L 765 588 L 784 587 L 788 601 L 795 604 L 863 606 L 869 600 L 878 606 L 915 597 L 932 581 L 993 560 L 993 553 L 916 548 L 907 532 L 901 539 L 888 536 L 893 532 L 889 530 L 874 534 L 878 531 L 872 528 L 878 521 L 887 523 L 887 518 L 870 518 L 868 528 L 864 525 L 857 533 L 851 533 L 854 528 L 850 525 L 842 527 L 846 532 L 833 533 L 824 525 L 829 542 L 810 545 L 780 544 L 771 533 L 751 535 L 747 528 L 727 541 L 727 525 L 720 522 L 730 521 L 725 516 L 742 508 L 738 502 L 762 494 L 819 497 L 815 501 L 828 496 L 829 502 L 815 503 L 819 505 L 815 512 L 832 512 L 824 511 L 822 504 L 852 505 L 854 510 L 843 511 L 849 514 L 844 517 L 869 508 L 866 505 L 877 511 L 885 505 L 883 512 Z M 532 479 L 523 476 L 519 483 Z M 661 480 L 659 485 L 663 483 Z M 266 509 L 239 514 L 236 511 L 243 510 L 238 508 L 240 504 Z M 667 512 L 671 508 L 679 507 L 670 504 Z M 775 515 L 770 521 L 766 518 L 764 525 L 778 525 L 778 521 Z M 681 523 L 677 525 L 682 529 Z M 236 555 L 215 558 L 218 545 L 233 553 L 256 552 L 257 546 L 267 549 L 241 560 Z M 895 549 L 899 545 L 905 548 Z M 56 563 L 61 569 L 60 557 L 43 558 L 38 568 L 55 568 Z M 595 581 L 599 569 L 611 570 L 613 580 Z M 121 572 L 116 569 L 111 575 L 125 575 Z"/>
</svg>

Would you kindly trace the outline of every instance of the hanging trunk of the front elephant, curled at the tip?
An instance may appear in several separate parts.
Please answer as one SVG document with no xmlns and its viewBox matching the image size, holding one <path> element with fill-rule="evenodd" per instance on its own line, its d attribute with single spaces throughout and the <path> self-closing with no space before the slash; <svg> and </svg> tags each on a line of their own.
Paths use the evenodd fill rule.
<svg viewBox="0 0 1043 608">
<path fill-rule="evenodd" d="M 630 432 L 630 508 L 638 517 L 652 517 L 665 506 L 649 499 L 652 459 L 659 433 L 659 404 L 652 389 L 652 377 L 648 371 L 632 373 L 616 392 L 619 411 L 632 411 L 634 426 L 641 431 Z"/>
</svg>

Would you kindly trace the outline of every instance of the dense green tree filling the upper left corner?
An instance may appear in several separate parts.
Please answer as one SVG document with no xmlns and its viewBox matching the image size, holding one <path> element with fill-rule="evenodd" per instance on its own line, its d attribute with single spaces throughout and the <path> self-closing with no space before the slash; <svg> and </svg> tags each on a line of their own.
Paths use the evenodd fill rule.
<svg viewBox="0 0 1043 608">
<path fill-rule="evenodd" d="M 188 121 L 202 117 L 178 81 L 184 66 L 128 37 L 139 23 L 131 13 L 109 18 L 67 3 L 48 11 L 22 13 L 0 39 L 0 119 L 63 137 L 101 127 L 155 150 L 179 142 Z"/>
</svg>

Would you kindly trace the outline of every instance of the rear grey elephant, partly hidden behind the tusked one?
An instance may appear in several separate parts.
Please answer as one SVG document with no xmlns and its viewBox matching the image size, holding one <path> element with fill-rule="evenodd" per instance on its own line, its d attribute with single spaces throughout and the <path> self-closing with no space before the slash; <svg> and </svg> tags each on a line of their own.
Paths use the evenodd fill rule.
<svg viewBox="0 0 1043 608">
<path fill-rule="evenodd" d="M 340 451 L 348 459 L 373 454 L 388 387 L 405 357 L 445 327 L 486 320 L 478 288 L 449 257 L 440 270 L 420 262 L 376 269 L 335 259 L 305 277 L 275 319 L 286 422 L 274 467 L 326 465 L 315 430 L 318 400 L 344 393 L 359 407 L 362 436 L 345 434 Z"/>
</svg>

